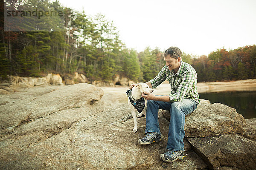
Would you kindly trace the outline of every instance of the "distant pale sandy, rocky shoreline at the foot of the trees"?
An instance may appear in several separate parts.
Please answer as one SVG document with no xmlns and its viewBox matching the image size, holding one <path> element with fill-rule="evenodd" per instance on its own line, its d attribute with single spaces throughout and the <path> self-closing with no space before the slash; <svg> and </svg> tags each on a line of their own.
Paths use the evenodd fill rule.
<svg viewBox="0 0 256 170">
<path fill-rule="evenodd" d="M 83 74 L 74 75 L 47 74 L 46 77 L 19 77 L 9 76 L 9 80 L 0 82 L 0 94 L 9 94 L 9 92 L 23 91 L 26 88 L 47 85 L 74 85 L 77 83 L 89 83 L 97 87 L 107 88 L 126 88 L 134 81 L 116 75 L 111 82 L 102 82 L 95 80 L 90 82 Z M 161 87 L 157 87 L 162 95 L 170 93 L 169 83 L 163 82 Z M 160 90 L 158 90 L 160 89 Z M 111 89 L 112 90 L 112 89 Z M 218 91 L 256 91 L 256 79 L 236 80 L 227 82 L 198 82 L 198 92 L 218 92 Z"/>
</svg>

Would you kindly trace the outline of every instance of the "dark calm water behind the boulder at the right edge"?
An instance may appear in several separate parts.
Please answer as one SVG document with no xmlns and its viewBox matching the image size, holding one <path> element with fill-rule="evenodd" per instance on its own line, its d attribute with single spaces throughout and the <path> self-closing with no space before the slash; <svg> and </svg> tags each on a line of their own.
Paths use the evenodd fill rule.
<svg viewBox="0 0 256 170">
<path fill-rule="evenodd" d="M 224 91 L 200 93 L 201 99 L 235 108 L 245 119 L 256 118 L 256 91 Z"/>
</svg>

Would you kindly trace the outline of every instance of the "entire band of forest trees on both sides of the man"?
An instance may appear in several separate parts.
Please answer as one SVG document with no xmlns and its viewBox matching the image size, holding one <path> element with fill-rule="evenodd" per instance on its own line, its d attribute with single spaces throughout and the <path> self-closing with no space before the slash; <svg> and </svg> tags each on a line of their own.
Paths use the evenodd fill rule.
<svg viewBox="0 0 256 170">
<path fill-rule="evenodd" d="M 2 2 L 2 1 L 1 1 Z M 19 3 L 17 3 L 19 2 Z M 58 1 L 8 0 L 1 3 L 15 9 L 32 8 L 40 3 L 48 9 L 64 10 L 63 22 L 52 17 L 48 31 L 4 31 L 0 27 L 0 77 L 7 75 L 41 77 L 49 72 L 61 75 L 79 72 L 90 81 L 111 81 L 117 74 L 134 81 L 154 78 L 165 65 L 160 48 L 145 48 L 142 52 L 129 49 L 119 38 L 113 22 L 102 14 L 86 15 L 84 11 L 64 8 Z M 57 23 L 57 24 L 56 24 Z M 52 24 L 52 25 L 51 25 Z M 59 26 L 58 26 L 59 24 Z M 64 26 L 63 31 L 58 28 Z M 218 49 L 208 56 L 183 54 L 183 61 L 198 73 L 198 81 L 256 78 L 256 46 L 236 50 Z"/>
</svg>

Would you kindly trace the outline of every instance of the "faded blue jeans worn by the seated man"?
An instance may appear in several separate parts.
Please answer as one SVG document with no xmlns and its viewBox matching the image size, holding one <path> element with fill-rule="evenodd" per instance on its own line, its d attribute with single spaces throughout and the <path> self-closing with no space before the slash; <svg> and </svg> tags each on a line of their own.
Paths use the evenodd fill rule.
<svg viewBox="0 0 256 170">
<path fill-rule="evenodd" d="M 162 102 L 147 100 L 146 130 L 160 133 L 158 123 L 158 109 L 170 111 L 170 124 L 166 149 L 172 151 L 185 151 L 183 138 L 185 136 L 185 115 L 197 108 L 198 103 L 192 99 L 183 99 L 181 102 Z"/>
</svg>

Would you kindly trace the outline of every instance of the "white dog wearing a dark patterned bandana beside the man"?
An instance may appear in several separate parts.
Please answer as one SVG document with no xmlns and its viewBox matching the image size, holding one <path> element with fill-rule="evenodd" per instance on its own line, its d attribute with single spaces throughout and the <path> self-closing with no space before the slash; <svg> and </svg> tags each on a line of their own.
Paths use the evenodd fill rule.
<svg viewBox="0 0 256 170">
<path fill-rule="evenodd" d="M 131 90 L 126 92 L 127 99 L 128 99 L 128 106 L 131 108 L 131 114 L 134 119 L 134 129 L 133 132 L 137 132 L 138 125 L 136 117 L 141 117 L 143 114 L 146 117 L 146 108 L 145 108 L 145 99 L 142 97 L 143 92 L 152 93 L 154 90 L 149 88 L 149 86 L 144 83 L 140 82 L 135 85 Z M 140 113 L 136 116 L 136 110 Z"/>
</svg>

